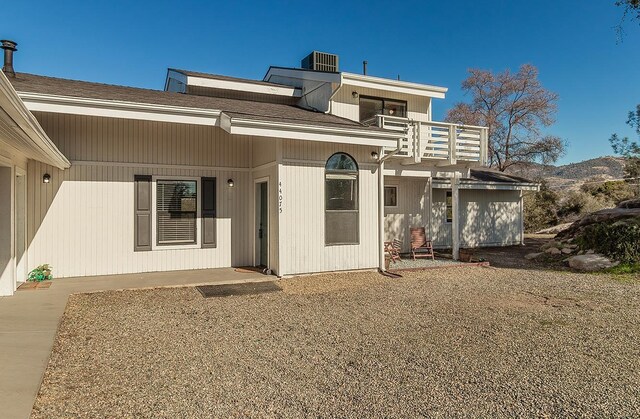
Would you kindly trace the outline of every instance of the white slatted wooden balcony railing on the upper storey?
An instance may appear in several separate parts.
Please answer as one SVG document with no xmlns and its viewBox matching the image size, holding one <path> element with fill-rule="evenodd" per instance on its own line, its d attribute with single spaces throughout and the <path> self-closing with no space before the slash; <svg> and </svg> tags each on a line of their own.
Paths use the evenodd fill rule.
<svg viewBox="0 0 640 419">
<path fill-rule="evenodd" d="M 377 115 L 378 126 L 402 132 L 400 151 L 394 157 L 407 163 L 433 162 L 436 166 L 487 164 L 488 131 L 486 127 L 424 122 L 396 116 Z M 387 150 L 386 154 L 392 150 Z"/>
</svg>

